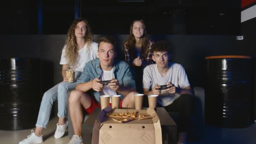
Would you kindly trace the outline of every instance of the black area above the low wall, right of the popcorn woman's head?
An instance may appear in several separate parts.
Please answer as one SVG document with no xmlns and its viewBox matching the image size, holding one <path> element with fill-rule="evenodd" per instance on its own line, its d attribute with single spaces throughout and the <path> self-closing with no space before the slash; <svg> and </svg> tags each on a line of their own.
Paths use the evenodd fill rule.
<svg viewBox="0 0 256 144">
<path fill-rule="evenodd" d="M 154 35 L 238 35 L 240 3 L 241 0 L 90 0 L 81 1 L 80 11 L 94 34 L 128 34 L 131 22 L 143 19 L 147 32 Z"/>
</svg>

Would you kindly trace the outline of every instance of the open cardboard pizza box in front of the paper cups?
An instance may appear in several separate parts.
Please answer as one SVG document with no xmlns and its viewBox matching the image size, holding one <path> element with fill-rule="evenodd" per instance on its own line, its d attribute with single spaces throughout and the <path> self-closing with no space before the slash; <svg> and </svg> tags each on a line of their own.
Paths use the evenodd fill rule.
<svg viewBox="0 0 256 144">
<path fill-rule="evenodd" d="M 133 120 L 118 123 L 108 112 L 121 113 L 139 111 L 139 114 L 154 116 L 147 120 Z M 103 109 L 93 127 L 92 144 L 162 144 L 162 131 L 159 118 L 154 109 Z"/>
</svg>

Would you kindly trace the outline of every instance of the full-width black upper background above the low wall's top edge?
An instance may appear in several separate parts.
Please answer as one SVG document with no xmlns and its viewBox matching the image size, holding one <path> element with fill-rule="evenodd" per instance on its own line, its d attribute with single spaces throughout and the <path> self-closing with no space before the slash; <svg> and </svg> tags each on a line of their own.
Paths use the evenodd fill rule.
<svg viewBox="0 0 256 144">
<path fill-rule="evenodd" d="M 1 34 L 66 34 L 75 8 L 95 34 L 128 34 L 135 19 L 144 19 L 153 35 L 241 32 L 241 0 L 9 0 L 0 5 Z"/>
</svg>

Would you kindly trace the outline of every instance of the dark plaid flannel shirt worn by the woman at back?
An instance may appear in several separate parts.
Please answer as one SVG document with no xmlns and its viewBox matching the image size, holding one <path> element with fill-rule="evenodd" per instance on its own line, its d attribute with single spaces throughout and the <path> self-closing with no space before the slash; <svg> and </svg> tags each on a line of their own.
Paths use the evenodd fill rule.
<svg viewBox="0 0 256 144">
<path fill-rule="evenodd" d="M 150 40 L 149 40 L 149 45 L 148 45 L 149 53 L 148 53 L 148 55 L 147 55 L 146 60 L 145 60 L 145 59 L 142 59 L 143 61 L 148 61 L 148 62 L 150 62 L 151 64 L 154 63 L 154 61 L 153 61 L 153 59 L 152 59 L 153 53 L 150 51 L 151 45 L 152 45 L 153 43 L 155 43 L 154 40 L 150 39 Z M 129 51 L 128 51 L 129 48 L 128 48 L 128 43 L 127 43 L 127 42 L 124 43 L 123 49 L 125 50 L 125 51 L 124 51 L 124 53 L 125 53 L 125 61 L 126 61 L 128 64 L 130 64 L 130 63 L 133 61 L 133 59 L 135 59 L 135 58 L 133 58 L 133 57 L 130 56 Z"/>
</svg>

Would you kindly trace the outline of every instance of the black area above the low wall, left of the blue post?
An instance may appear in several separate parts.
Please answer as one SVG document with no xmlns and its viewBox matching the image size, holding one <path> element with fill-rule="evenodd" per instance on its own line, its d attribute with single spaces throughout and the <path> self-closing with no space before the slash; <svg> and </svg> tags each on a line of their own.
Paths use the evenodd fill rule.
<svg viewBox="0 0 256 144">
<path fill-rule="evenodd" d="M 0 1 L 1 34 L 37 34 L 37 0 Z"/>
</svg>

